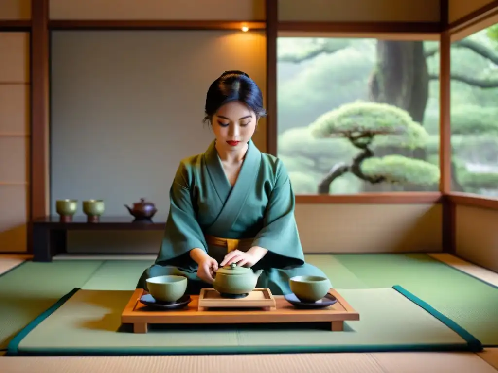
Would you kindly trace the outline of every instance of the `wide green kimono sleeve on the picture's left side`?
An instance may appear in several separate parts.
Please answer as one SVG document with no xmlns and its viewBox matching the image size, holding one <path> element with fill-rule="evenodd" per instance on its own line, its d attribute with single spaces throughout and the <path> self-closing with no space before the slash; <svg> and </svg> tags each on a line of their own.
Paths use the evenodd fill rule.
<svg viewBox="0 0 498 373">
<path fill-rule="evenodd" d="M 195 262 L 190 258 L 190 250 L 199 248 L 206 251 L 204 233 L 192 205 L 186 167 L 180 163 L 169 191 L 169 214 L 155 261 L 158 265 L 191 267 Z"/>
</svg>

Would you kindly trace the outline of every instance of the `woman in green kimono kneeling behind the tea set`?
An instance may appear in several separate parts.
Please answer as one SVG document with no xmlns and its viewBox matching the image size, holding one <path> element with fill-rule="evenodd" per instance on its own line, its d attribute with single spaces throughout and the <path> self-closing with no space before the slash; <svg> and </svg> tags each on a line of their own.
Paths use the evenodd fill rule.
<svg viewBox="0 0 498 373">
<path fill-rule="evenodd" d="M 181 275 L 189 280 L 187 293 L 199 294 L 231 263 L 262 269 L 256 286 L 275 295 L 291 292 L 293 276 L 325 277 L 304 262 L 284 165 L 251 140 L 265 115 L 257 85 L 241 71 L 225 72 L 211 84 L 205 112 L 215 140 L 180 162 L 159 254 L 136 287 L 147 289 L 151 277 Z"/>
</svg>

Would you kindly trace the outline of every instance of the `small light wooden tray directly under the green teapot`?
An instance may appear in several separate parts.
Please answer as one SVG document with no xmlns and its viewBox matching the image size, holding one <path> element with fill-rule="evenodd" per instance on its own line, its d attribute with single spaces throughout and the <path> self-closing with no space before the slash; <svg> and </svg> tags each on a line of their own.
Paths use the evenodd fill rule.
<svg viewBox="0 0 498 373">
<path fill-rule="evenodd" d="M 275 298 L 268 288 L 256 288 L 245 298 L 239 299 L 222 298 L 215 289 L 203 288 L 197 302 L 198 311 L 206 311 L 208 308 L 263 308 L 269 311 L 275 306 Z"/>
</svg>

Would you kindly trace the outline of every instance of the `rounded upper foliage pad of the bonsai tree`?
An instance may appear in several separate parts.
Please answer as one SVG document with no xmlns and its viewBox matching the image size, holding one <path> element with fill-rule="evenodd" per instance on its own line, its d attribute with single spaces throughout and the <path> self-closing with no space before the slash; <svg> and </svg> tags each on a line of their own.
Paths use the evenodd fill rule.
<svg viewBox="0 0 498 373">
<path fill-rule="evenodd" d="M 424 147 L 429 137 L 405 110 L 378 102 L 344 104 L 320 115 L 310 127 L 316 137 L 371 134 L 377 146 L 396 144 L 412 149 Z"/>
</svg>

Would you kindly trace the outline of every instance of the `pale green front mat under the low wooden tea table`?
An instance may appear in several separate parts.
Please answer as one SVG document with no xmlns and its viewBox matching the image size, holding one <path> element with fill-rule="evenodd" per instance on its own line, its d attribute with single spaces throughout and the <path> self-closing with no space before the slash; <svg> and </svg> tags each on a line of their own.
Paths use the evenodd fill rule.
<svg viewBox="0 0 498 373">
<path fill-rule="evenodd" d="M 21 340 L 16 339 L 9 346 L 9 355 L 434 352 L 476 347 L 476 341 L 457 334 L 432 310 L 415 303 L 411 294 L 401 293 L 403 289 L 337 290 L 361 315 L 361 321 L 344 326 L 344 333 L 331 332 L 330 324 L 259 324 L 151 327 L 147 334 L 136 334 L 129 327 L 120 328 L 121 312 L 132 290 L 80 289 Z"/>
</svg>

